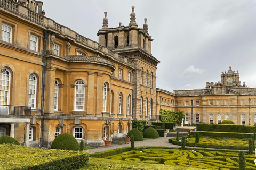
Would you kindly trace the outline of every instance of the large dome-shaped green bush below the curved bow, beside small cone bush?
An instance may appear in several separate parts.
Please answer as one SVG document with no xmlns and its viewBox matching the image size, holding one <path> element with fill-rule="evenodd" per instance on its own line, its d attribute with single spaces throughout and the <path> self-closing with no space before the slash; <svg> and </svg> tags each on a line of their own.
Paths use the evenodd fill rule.
<svg viewBox="0 0 256 170">
<path fill-rule="evenodd" d="M 53 140 L 51 149 L 79 150 L 79 144 L 73 135 L 61 133 Z"/>
</svg>

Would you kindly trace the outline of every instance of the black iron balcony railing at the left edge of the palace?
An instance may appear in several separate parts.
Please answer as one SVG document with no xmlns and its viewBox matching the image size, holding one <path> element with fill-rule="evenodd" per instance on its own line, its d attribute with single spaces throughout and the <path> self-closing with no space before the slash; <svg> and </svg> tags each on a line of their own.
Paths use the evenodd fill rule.
<svg viewBox="0 0 256 170">
<path fill-rule="evenodd" d="M 30 116 L 31 107 L 0 105 L 0 115 Z"/>
</svg>

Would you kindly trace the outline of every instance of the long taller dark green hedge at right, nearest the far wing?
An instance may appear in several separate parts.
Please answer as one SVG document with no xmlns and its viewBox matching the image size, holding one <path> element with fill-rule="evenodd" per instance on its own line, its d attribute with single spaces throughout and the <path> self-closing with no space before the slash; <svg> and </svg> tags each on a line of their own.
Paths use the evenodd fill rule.
<svg viewBox="0 0 256 170">
<path fill-rule="evenodd" d="M 234 125 L 234 124 L 196 124 L 197 131 L 212 132 L 235 132 L 235 133 L 254 133 L 256 126 Z"/>
</svg>

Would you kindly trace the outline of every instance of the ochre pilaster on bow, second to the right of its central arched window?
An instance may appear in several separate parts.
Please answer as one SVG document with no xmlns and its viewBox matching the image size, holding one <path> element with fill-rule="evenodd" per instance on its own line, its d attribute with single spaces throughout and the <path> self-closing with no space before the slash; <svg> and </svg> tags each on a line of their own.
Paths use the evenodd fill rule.
<svg viewBox="0 0 256 170">
<path fill-rule="evenodd" d="M 102 89 L 102 75 L 103 73 L 97 73 L 97 103 L 96 103 L 96 116 L 102 117 L 103 108 L 103 89 Z"/>
</svg>

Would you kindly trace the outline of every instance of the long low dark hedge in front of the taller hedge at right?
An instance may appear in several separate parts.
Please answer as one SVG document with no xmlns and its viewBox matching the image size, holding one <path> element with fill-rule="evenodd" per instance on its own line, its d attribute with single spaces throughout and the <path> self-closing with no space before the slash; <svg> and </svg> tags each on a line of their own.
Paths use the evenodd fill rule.
<svg viewBox="0 0 256 170">
<path fill-rule="evenodd" d="M 197 131 L 191 131 L 190 135 L 195 136 Z M 226 137 L 226 138 L 251 138 L 253 133 L 231 133 L 231 132 L 198 132 L 201 137 Z"/>
</svg>

